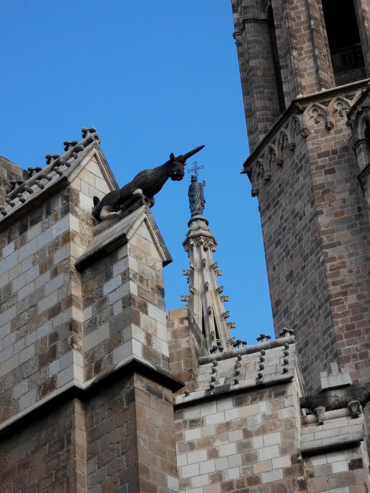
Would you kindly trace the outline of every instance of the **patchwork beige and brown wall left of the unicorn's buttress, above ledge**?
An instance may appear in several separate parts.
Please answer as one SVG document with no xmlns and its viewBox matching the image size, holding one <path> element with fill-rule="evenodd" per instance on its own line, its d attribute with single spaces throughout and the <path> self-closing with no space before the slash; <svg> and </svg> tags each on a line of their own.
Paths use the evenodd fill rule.
<svg viewBox="0 0 370 493">
<path fill-rule="evenodd" d="M 81 281 L 73 265 L 92 237 L 92 197 L 108 188 L 94 155 L 85 165 L 72 185 L 2 226 L 2 422 L 84 380 Z"/>
</svg>

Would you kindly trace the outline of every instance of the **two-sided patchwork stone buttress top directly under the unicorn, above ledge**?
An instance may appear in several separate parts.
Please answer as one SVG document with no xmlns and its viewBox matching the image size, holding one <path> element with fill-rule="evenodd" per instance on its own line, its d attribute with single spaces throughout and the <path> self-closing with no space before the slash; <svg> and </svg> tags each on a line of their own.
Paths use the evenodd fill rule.
<svg viewBox="0 0 370 493">
<path fill-rule="evenodd" d="M 82 272 L 87 380 L 131 355 L 169 371 L 162 260 L 145 222 Z"/>
</svg>

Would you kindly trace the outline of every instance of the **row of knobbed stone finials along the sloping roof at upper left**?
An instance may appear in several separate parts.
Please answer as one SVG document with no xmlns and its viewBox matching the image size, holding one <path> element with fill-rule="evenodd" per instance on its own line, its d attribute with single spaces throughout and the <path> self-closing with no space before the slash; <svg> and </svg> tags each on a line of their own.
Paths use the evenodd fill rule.
<svg viewBox="0 0 370 493">
<path fill-rule="evenodd" d="M 26 202 L 28 195 L 24 196 L 24 193 L 32 194 L 37 188 L 43 189 L 47 182 L 52 180 L 52 176 L 50 173 L 55 171 L 55 173 L 59 176 L 63 174 L 62 168 L 69 168 L 73 160 L 75 160 L 78 155 L 91 144 L 93 141 L 100 142 L 99 136 L 95 133 L 95 127 L 82 128 L 82 137 L 83 140 L 81 142 L 77 142 L 76 140 L 72 141 L 64 141 L 64 150 L 65 152 L 60 156 L 59 154 L 47 154 L 46 157 L 46 167 L 36 167 L 36 168 L 28 168 L 29 178 L 27 180 L 13 180 L 12 187 L 13 190 L 7 195 L 6 202 L 10 206 L 10 208 L 16 205 L 14 199 L 18 198 L 21 203 Z M 45 181 L 46 180 L 46 181 Z M 36 189 L 32 189 L 31 187 L 36 185 Z M 10 209 L 11 210 L 11 209 Z M 3 216 L 8 214 L 8 211 L 5 207 L 0 208 L 0 213 Z"/>
</svg>

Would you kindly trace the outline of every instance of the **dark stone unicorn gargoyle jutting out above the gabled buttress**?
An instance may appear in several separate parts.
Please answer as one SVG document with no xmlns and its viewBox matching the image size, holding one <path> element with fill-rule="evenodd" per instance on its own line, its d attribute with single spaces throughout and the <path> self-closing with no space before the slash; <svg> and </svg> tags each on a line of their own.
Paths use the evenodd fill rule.
<svg viewBox="0 0 370 493">
<path fill-rule="evenodd" d="M 111 219 L 114 216 L 124 217 L 146 203 L 150 207 L 154 205 L 154 196 L 162 189 L 169 178 L 179 182 L 184 178 L 184 166 L 186 159 L 200 151 L 204 145 L 180 154 L 175 157 L 170 154 L 170 159 L 163 165 L 157 166 L 152 170 L 144 170 L 138 173 L 135 178 L 124 185 L 120 190 L 113 190 L 105 195 L 102 200 L 94 197 L 93 216 L 100 222 Z M 118 214 L 122 211 L 123 214 Z"/>
</svg>

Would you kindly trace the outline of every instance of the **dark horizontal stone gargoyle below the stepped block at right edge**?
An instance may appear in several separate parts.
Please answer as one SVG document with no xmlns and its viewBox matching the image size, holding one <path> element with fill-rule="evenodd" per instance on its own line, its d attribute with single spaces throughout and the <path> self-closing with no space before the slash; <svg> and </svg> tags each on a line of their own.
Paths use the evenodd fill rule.
<svg viewBox="0 0 370 493">
<path fill-rule="evenodd" d="M 319 423 L 325 421 L 326 411 L 348 407 L 353 418 L 357 418 L 361 412 L 361 406 L 370 400 L 370 385 L 354 383 L 348 387 L 331 390 L 321 390 L 311 395 L 300 398 L 301 407 L 313 410 Z"/>
</svg>

